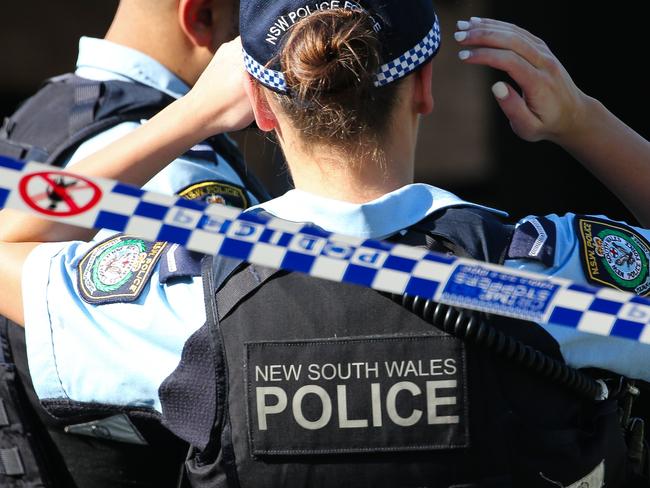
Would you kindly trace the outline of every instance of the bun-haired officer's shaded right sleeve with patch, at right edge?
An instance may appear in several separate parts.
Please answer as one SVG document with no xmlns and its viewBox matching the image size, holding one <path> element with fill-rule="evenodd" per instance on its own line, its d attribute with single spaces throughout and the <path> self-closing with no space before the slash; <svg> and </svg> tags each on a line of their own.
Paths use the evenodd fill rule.
<svg viewBox="0 0 650 488">
<path fill-rule="evenodd" d="M 517 229 L 538 219 L 526 217 Z M 611 296 L 608 293 L 612 289 L 650 296 L 650 231 L 602 216 L 567 214 L 545 219 L 554 232 L 554 242 L 545 244 L 552 247 L 551 261 L 545 264 L 520 256 L 505 264 L 601 288 L 596 296 L 576 297 L 576 305 L 577 301 L 585 301 L 580 305 L 585 312 L 579 329 L 544 326 L 559 342 L 565 360 L 577 368 L 597 367 L 650 381 L 650 347 L 634 340 L 608 337 L 617 317 L 600 313 L 597 302 L 598 298 Z"/>
</svg>

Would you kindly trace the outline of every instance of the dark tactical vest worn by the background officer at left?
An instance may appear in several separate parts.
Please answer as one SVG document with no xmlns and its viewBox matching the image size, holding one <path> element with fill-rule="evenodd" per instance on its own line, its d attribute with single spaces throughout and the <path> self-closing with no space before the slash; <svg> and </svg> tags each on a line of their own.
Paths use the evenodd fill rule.
<svg viewBox="0 0 650 488">
<path fill-rule="evenodd" d="M 122 122 L 150 118 L 172 101 L 137 83 L 53 78 L 0 127 L 0 155 L 62 166 L 84 141 Z M 247 190 L 260 201 L 268 199 L 227 136 L 206 143 Z M 206 164 L 215 164 L 214 158 Z M 65 404 L 55 418 L 34 392 L 23 328 L 0 317 L 0 344 L 0 486 L 176 486 L 187 447 L 156 415 Z"/>
</svg>

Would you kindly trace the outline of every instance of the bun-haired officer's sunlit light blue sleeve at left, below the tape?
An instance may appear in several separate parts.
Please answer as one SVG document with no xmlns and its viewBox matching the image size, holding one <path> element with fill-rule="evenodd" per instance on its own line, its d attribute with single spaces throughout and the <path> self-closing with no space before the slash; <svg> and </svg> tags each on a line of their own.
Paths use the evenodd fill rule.
<svg viewBox="0 0 650 488">
<path fill-rule="evenodd" d="M 23 268 L 27 356 L 41 400 L 148 407 L 205 322 L 201 279 L 160 285 L 157 270 L 136 301 L 93 305 L 77 265 L 95 243 L 38 246 Z"/>
</svg>

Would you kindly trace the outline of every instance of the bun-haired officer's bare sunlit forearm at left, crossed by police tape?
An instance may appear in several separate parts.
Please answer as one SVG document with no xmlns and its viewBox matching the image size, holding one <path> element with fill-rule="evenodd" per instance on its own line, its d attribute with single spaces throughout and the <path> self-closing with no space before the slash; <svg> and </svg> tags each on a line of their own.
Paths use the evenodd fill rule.
<svg viewBox="0 0 650 488">
<path fill-rule="evenodd" d="M 174 102 L 131 134 L 78 162 L 74 173 L 119 179 L 142 186 L 210 134 L 206 121 L 194 116 L 190 97 Z M 16 211 L 0 212 L 0 242 L 89 240 L 95 231 L 80 229 Z"/>
</svg>

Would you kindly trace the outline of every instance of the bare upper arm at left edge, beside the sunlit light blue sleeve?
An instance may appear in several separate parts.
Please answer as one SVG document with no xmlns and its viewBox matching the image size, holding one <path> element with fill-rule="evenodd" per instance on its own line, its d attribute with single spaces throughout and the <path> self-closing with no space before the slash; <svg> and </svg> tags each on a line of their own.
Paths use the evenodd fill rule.
<svg viewBox="0 0 650 488">
<path fill-rule="evenodd" d="M 22 270 L 35 243 L 7 244 L 0 242 L 0 315 L 17 324 L 24 324 Z"/>
</svg>

